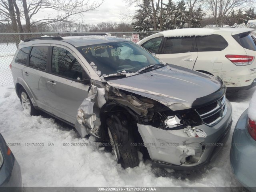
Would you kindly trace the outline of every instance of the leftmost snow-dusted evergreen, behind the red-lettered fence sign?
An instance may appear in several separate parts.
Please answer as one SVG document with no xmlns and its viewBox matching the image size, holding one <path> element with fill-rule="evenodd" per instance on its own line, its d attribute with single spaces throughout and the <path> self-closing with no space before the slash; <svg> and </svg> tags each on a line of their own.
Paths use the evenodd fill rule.
<svg viewBox="0 0 256 192">
<path fill-rule="evenodd" d="M 143 0 L 140 8 L 136 11 L 132 29 L 134 31 L 152 31 L 154 30 L 153 10 L 150 5 L 150 0 Z"/>
</svg>

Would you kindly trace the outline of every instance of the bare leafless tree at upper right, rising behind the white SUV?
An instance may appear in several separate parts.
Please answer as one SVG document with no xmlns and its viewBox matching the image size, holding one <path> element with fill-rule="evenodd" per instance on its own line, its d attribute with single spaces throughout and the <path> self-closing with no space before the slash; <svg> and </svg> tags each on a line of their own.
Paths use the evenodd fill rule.
<svg viewBox="0 0 256 192">
<path fill-rule="evenodd" d="M 245 8 L 253 0 L 207 0 L 212 15 L 215 18 L 215 26 L 222 27 L 225 18 L 231 14 L 232 10 Z"/>
</svg>

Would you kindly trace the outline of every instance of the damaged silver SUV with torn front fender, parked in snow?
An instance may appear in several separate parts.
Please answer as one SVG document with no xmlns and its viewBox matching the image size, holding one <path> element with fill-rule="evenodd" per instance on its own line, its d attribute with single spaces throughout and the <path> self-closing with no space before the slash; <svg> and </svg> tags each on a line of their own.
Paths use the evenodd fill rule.
<svg viewBox="0 0 256 192">
<path fill-rule="evenodd" d="M 232 106 L 220 78 L 165 64 L 128 40 L 28 39 L 10 67 L 24 111 L 108 141 L 124 168 L 139 164 L 138 151 L 156 166 L 202 166 L 229 136 Z"/>
</svg>

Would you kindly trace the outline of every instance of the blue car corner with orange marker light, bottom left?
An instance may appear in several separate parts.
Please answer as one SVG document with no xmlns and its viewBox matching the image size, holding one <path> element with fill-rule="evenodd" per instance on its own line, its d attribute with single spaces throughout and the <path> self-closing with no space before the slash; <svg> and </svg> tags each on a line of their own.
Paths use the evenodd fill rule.
<svg viewBox="0 0 256 192">
<path fill-rule="evenodd" d="M 22 190 L 20 165 L 0 134 L 0 191 Z"/>
</svg>

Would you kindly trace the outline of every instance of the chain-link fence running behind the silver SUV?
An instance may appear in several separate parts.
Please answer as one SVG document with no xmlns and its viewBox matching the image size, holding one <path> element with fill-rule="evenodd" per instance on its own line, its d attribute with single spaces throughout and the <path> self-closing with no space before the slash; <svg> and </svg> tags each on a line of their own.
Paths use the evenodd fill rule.
<svg viewBox="0 0 256 192">
<path fill-rule="evenodd" d="M 78 33 L 78 32 L 44 32 L 44 33 L 0 33 L 0 86 L 13 84 L 12 73 L 9 68 L 17 46 L 21 40 L 37 38 L 40 36 L 80 36 L 100 33 Z M 155 32 L 106 32 L 112 36 L 132 40 L 132 34 L 139 34 L 140 40 L 154 34 Z"/>
</svg>

